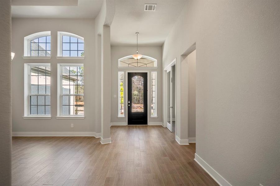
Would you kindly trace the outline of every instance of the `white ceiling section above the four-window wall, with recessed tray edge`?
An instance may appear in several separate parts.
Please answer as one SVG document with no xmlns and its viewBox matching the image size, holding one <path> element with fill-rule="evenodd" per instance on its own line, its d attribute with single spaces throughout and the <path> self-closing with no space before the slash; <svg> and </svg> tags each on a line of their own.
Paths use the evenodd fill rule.
<svg viewBox="0 0 280 186">
<path fill-rule="evenodd" d="M 13 18 L 95 18 L 103 0 L 12 0 Z"/>
</svg>

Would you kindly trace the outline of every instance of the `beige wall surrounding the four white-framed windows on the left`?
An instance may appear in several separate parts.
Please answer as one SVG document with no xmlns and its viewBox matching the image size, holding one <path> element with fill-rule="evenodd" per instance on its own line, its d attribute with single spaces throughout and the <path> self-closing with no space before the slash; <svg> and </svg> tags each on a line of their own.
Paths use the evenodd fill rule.
<svg viewBox="0 0 280 186">
<path fill-rule="evenodd" d="M 51 31 L 51 56 L 50 60 L 23 59 L 23 38 L 32 33 Z M 57 56 L 57 31 L 64 31 L 84 37 L 84 60 L 58 60 Z M 12 19 L 12 51 L 16 53 L 12 61 L 12 131 L 13 132 L 96 132 L 94 118 L 94 98 L 97 94 L 94 83 L 95 73 L 100 69 L 95 68 L 94 59 L 94 20 L 93 19 Z M 24 115 L 24 63 L 50 63 L 51 64 L 51 115 L 52 119 L 23 119 Z M 57 64 L 82 63 L 85 67 L 85 119 L 56 119 L 57 116 Z M 98 92 L 99 93 L 99 92 Z M 99 93 L 100 94 L 100 93 Z M 100 104 L 99 104 L 100 105 Z M 70 124 L 74 124 L 74 128 Z"/>
</svg>

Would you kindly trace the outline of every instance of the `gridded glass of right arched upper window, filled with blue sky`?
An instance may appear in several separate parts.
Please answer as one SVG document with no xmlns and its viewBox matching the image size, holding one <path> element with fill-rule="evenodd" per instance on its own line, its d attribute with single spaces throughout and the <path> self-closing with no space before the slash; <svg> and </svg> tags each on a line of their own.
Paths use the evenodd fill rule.
<svg viewBox="0 0 280 186">
<path fill-rule="evenodd" d="M 62 56 L 84 56 L 84 40 L 74 36 L 62 35 Z"/>
</svg>

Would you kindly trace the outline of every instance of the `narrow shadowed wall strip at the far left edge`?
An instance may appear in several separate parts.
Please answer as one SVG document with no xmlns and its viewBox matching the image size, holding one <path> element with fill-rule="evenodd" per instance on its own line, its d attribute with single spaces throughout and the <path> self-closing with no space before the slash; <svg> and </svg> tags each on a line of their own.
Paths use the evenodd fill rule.
<svg viewBox="0 0 280 186">
<path fill-rule="evenodd" d="M 11 0 L 0 1 L 0 185 L 11 185 Z"/>
</svg>

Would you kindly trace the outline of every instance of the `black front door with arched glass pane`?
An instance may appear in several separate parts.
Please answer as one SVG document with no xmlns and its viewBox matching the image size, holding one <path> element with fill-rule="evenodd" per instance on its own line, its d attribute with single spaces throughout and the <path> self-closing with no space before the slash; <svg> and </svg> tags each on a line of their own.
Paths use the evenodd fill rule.
<svg viewBox="0 0 280 186">
<path fill-rule="evenodd" d="M 143 72 L 127 74 L 128 125 L 147 125 L 147 78 Z"/>
</svg>

